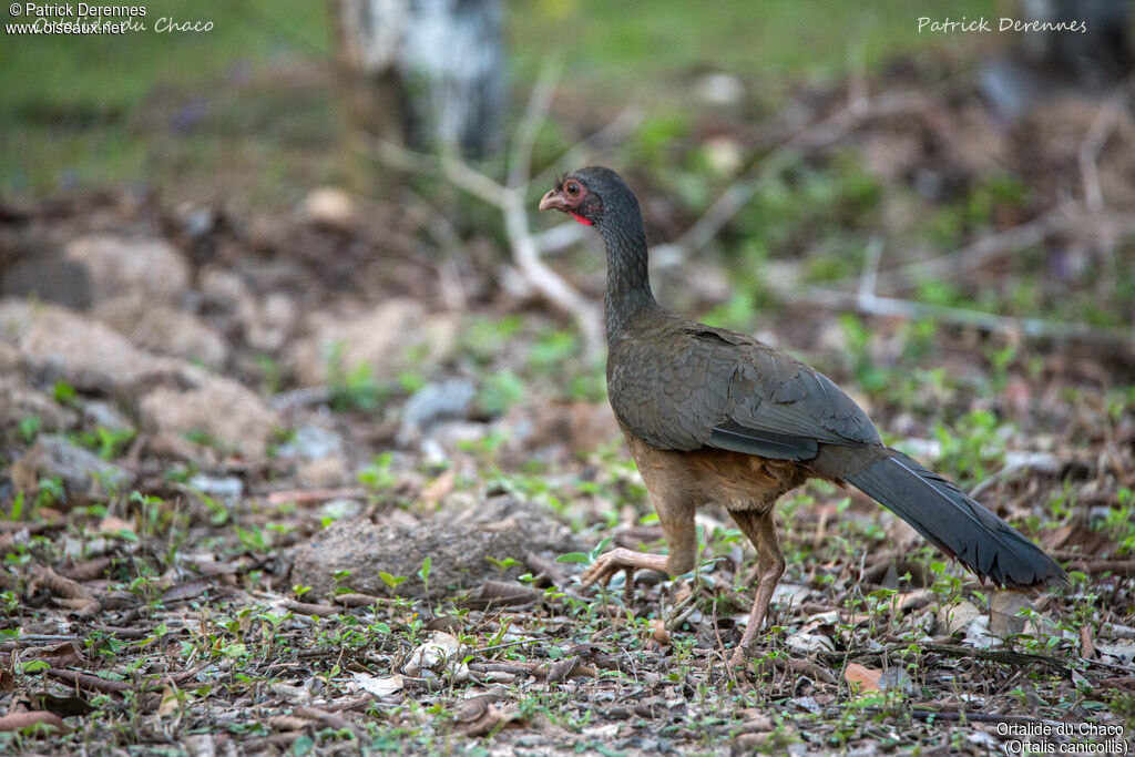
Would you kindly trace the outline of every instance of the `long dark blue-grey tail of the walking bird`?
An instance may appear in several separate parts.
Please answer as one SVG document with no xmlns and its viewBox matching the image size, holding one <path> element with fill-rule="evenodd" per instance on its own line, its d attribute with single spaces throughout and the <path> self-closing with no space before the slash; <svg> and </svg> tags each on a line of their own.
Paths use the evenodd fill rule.
<svg viewBox="0 0 1135 757">
<path fill-rule="evenodd" d="M 888 449 L 881 460 L 842 478 L 982 579 L 1011 588 L 1068 580 L 1056 561 L 1017 529 L 901 452 Z"/>
</svg>

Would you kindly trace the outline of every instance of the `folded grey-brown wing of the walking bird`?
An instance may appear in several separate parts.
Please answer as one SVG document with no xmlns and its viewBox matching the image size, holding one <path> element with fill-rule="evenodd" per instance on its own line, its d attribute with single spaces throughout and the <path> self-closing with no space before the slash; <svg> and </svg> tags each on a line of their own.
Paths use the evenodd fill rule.
<svg viewBox="0 0 1135 757">
<path fill-rule="evenodd" d="M 821 444 L 880 444 L 826 376 L 753 337 L 692 321 L 642 336 L 613 346 L 607 381 L 616 417 L 654 447 L 802 461 Z"/>
</svg>

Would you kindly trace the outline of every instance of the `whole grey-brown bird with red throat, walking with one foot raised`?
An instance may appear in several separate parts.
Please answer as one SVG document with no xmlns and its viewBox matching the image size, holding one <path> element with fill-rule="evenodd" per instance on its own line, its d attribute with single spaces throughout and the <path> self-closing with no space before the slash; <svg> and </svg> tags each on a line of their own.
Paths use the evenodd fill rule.
<svg viewBox="0 0 1135 757">
<path fill-rule="evenodd" d="M 867 414 L 823 373 L 662 308 L 650 291 L 642 213 L 617 174 L 570 174 L 544 195 L 540 210 L 549 208 L 594 226 L 606 246 L 607 392 L 669 544 L 667 555 L 607 552 L 585 584 L 621 570 L 692 570 L 693 512 L 723 505 L 757 553 L 759 584 L 732 661 L 742 664 L 784 572 L 773 505 L 809 478 L 852 483 L 982 580 L 1009 588 L 1067 580 L 1011 525 L 883 446 Z"/>
</svg>

